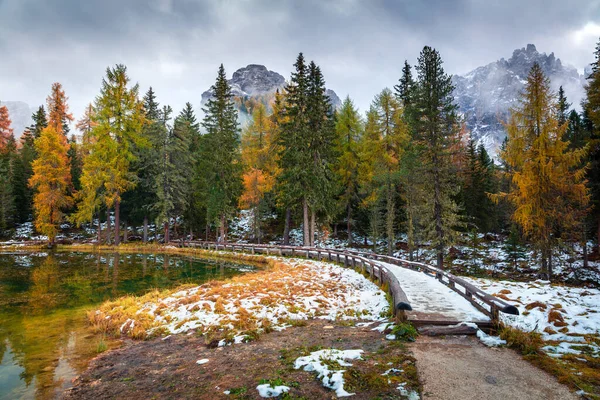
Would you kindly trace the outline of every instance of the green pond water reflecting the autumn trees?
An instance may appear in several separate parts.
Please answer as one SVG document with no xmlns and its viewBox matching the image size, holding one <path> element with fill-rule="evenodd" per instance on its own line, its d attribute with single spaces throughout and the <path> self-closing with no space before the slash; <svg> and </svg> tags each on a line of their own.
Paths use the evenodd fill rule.
<svg viewBox="0 0 600 400">
<path fill-rule="evenodd" d="M 159 254 L 0 253 L 0 400 L 54 398 L 116 346 L 87 324 L 103 301 L 251 269 Z"/>
</svg>

